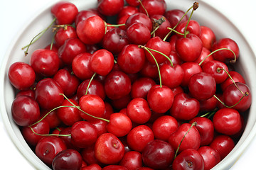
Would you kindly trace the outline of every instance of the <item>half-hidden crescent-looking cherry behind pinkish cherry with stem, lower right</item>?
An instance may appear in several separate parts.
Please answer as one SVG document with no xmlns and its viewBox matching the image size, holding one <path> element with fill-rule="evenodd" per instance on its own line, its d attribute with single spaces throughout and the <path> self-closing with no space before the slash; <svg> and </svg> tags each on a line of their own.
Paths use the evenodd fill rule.
<svg viewBox="0 0 256 170">
<path fill-rule="evenodd" d="M 205 117 L 196 117 L 189 121 L 189 123 L 193 122 L 196 122 L 195 127 L 201 136 L 201 146 L 209 145 L 214 137 L 213 122 Z"/>
</svg>

